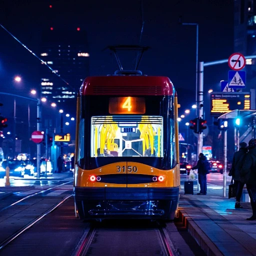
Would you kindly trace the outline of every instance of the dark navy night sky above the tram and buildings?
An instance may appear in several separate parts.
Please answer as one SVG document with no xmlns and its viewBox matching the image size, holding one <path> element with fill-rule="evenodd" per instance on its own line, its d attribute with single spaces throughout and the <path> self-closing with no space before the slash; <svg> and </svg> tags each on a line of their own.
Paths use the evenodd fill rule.
<svg viewBox="0 0 256 256">
<path fill-rule="evenodd" d="M 53 20 L 47 14 L 49 4 L 55 13 Z M 151 48 L 138 69 L 170 78 L 178 92 L 180 113 L 194 103 L 196 30 L 195 26 L 178 24 L 178 17 L 182 16 L 182 22 L 199 24 L 199 61 L 228 58 L 233 52 L 232 0 L 4 0 L 0 6 L 0 23 L 37 55 L 41 30 L 50 23 L 57 28 L 86 30 L 90 75 L 118 69 L 114 56 L 102 49 L 113 44 L 138 44 L 143 17 L 140 44 Z M 29 90 L 40 84 L 39 60 L 1 27 L 0 46 L 0 90 L 28 96 Z M 124 67 L 134 64 L 133 55 L 129 56 L 121 55 Z M 205 92 L 219 90 L 219 81 L 227 78 L 228 69 L 227 63 L 205 67 Z M 16 74 L 23 79 L 19 85 L 13 83 Z"/>
</svg>

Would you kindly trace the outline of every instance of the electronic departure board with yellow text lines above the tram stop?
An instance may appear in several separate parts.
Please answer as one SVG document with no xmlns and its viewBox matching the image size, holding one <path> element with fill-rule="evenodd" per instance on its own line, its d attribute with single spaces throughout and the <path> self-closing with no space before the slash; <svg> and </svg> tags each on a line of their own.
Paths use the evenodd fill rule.
<svg viewBox="0 0 256 256">
<path fill-rule="evenodd" d="M 250 92 L 210 93 L 210 114 L 212 116 L 219 116 L 235 109 L 250 109 Z"/>
</svg>

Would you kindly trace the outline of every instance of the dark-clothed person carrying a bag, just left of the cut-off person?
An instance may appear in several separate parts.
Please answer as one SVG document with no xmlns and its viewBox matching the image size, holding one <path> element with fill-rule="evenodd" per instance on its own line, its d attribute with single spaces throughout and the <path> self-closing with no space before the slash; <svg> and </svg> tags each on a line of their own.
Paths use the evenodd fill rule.
<svg viewBox="0 0 256 256">
<path fill-rule="evenodd" d="M 236 187 L 236 195 L 235 195 L 236 201 L 234 204 L 235 208 L 242 208 L 242 206 L 240 205 L 240 199 L 241 199 L 244 183 L 241 182 L 240 171 L 242 168 L 242 164 L 244 162 L 244 158 L 248 151 L 247 144 L 245 142 L 239 143 L 239 146 L 240 146 L 239 150 L 234 152 L 232 166 L 228 173 L 228 176 L 232 176 L 232 179 L 234 180 L 234 185 Z"/>
</svg>

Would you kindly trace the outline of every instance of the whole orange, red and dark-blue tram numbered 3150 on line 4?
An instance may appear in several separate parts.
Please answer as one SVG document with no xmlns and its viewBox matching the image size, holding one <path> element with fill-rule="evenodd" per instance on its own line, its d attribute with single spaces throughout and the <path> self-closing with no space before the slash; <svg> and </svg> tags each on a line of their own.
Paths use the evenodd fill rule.
<svg viewBox="0 0 256 256">
<path fill-rule="evenodd" d="M 180 176 L 177 97 L 168 77 L 87 77 L 74 168 L 79 218 L 173 219 Z"/>
</svg>

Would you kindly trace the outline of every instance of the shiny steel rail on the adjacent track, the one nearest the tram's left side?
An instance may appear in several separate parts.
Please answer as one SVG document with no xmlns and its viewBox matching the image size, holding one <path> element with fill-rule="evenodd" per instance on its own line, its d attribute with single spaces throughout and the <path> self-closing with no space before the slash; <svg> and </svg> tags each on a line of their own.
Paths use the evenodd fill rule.
<svg viewBox="0 0 256 256">
<path fill-rule="evenodd" d="M 35 220 L 29 222 L 27 225 L 25 225 L 23 228 L 19 229 L 17 232 L 9 236 L 7 239 L 5 239 L 3 242 L 0 243 L 0 250 L 5 247 L 7 244 L 9 244 L 11 241 L 13 241 L 16 237 L 18 237 L 20 234 L 22 234 L 24 231 L 26 231 L 29 227 L 37 223 L 39 220 L 41 220 L 43 217 L 45 217 L 47 214 L 52 212 L 54 209 L 56 209 L 60 204 L 62 204 L 65 200 L 67 200 L 69 197 L 73 196 L 73 194 L 70 194 L 66 196 L 62 201 L 52 206 L 50 209 L 48 209 L 46 212 L 38 216 Z"/>
</svg>

